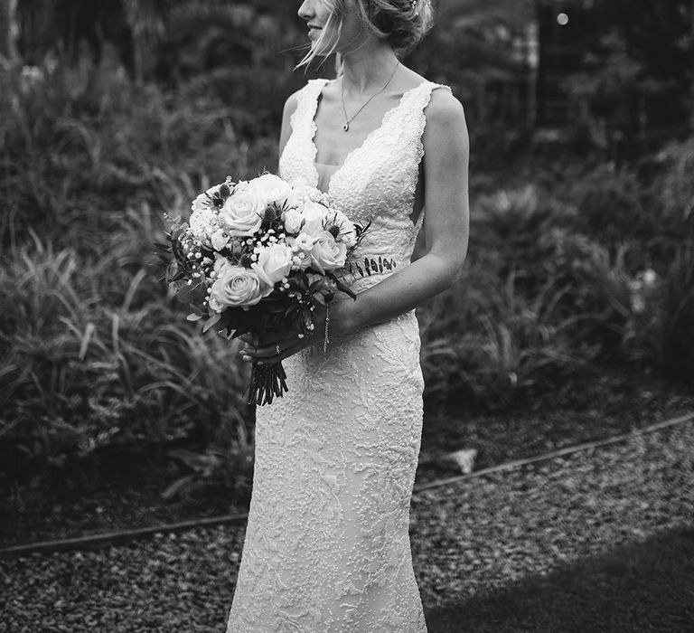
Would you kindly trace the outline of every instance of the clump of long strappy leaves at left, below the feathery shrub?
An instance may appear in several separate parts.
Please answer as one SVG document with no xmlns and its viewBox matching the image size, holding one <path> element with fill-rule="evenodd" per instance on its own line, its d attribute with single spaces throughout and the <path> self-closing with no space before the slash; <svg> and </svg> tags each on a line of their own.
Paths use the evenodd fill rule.
<svg viewBox="0 0 694 633">
<path fill-rule="evenodd" d="M 223 420 L 244 422 L 233 345 L 183 325 L 154 271 L 128 272 L 124 255 L 37 240 L 5 259 L 0 470 L 56 476 L 104 451 L 204 443 Z"/>
</svg>

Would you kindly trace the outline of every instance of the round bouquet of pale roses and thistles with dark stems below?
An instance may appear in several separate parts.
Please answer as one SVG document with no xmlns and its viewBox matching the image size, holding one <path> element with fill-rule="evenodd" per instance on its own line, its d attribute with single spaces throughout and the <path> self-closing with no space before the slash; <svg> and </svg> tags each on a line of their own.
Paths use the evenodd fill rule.
<svg viewBox="0 0 694 633">
<path fill-rule="evenodd" d="M 291 186 L 264 174 L 234 183 L 231 177 L 192 202 L 190 222 L 164 213 L 172 231 L 159 250 L 165 281 L 190 303 L 191 321 L 228 339 L 262 334 L 293 322 L 299 337 L 314 332 L 314 312 L 338 291 L 356 298 L 342 281 L 357 269 L 392 269 L 392 260 L 350 262 L 367 226 L 334 208 L 329 194 Z M 280 363 L 253 364 L 249 404 L 264 405 L 288 391 Z"/>
</svg>

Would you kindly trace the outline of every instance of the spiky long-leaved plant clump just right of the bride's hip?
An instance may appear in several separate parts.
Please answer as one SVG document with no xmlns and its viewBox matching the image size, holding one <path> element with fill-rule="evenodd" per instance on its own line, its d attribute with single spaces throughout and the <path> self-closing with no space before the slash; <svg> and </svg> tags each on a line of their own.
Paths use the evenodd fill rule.
<svg viewBox="0 0 694 633">
<path fill-rule="evenodd" d="M 566 288 L 549 280 L 526 297 L 511 273 L 503 283 L 469 269 L 464 279 L 420 310 L 427 394 L 503 408 L 586 367 L 599 346 L 577 341 L 589 315 L 558 315 Z M 455 397 L 457 395 L 457 397 Z"/>
</svg>

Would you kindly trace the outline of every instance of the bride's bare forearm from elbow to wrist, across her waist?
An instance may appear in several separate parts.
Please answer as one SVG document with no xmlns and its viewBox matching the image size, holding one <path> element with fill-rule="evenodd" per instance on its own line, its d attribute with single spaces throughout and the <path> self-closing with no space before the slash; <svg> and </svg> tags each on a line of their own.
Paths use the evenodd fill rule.
<svg viewBox="0 0 694 633">
<path fill-rule="evenodd" d="M 464 255 L 464 254 L 463 254 Z M 460 277 L 464 257 L 443 258 L 429 252 L 406 268 L 330 308 L 333 333 L 347 335 L 400 316 L 450 288 Z"/>
</svg>

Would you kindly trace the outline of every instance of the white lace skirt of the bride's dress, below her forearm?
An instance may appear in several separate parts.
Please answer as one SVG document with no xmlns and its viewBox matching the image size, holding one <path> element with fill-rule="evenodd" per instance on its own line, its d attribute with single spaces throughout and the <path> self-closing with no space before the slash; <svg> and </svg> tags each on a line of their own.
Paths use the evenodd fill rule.
<svg viewBox="0 0 694 633">
<path fill-rule="evenodd" d="M 409 504 L 422 431 L 414 311 L 284 362 L 259 407 L 228 633 L 422 633 Z"/>
</svg>

